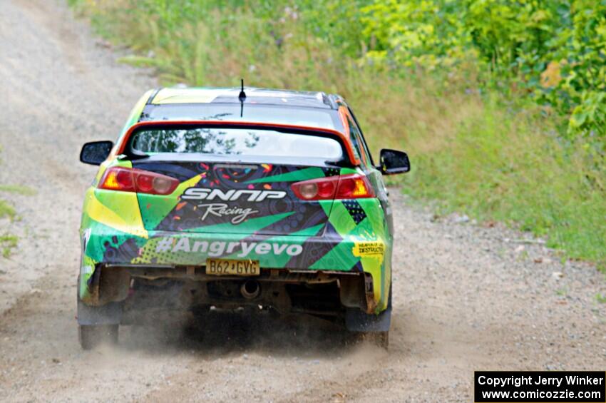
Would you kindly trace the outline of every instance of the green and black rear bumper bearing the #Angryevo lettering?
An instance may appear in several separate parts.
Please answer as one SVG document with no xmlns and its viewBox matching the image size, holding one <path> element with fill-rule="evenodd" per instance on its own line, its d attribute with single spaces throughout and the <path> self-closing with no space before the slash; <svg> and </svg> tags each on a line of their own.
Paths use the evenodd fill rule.
<svg viewBox="0 0 606 403">
<path fill-rule="evenodd" d="M 262 270 L 286 272 L 346 272 L 369 277 L 369 309 L 386 310 L 391 283 L 391 243 L 381 238 L 170 233 L 150 231 L 148 238 L 96 226 L 82 234 L 83 259 L 78 295 L 99 305 L 95 272 L 111 267 L 162 267 L 178 272 L 190 267 L 203 272 L 208 257 L 259 260 Z M 187 270 L 185 270 L 187 272 Z"/>
</svg>

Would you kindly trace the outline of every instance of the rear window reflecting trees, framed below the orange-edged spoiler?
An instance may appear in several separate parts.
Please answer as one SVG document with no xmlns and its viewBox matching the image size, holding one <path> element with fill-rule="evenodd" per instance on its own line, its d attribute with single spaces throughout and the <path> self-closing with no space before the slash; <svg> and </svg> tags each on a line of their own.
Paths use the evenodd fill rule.
<svg viewBox="0 0 606 403">
<path fill-rule="evenodd" d="M 144 129 L 133 134 L 130 147 L 143 153 L 343 158 L 334 138 L 250 128 Z"/>
</svg>

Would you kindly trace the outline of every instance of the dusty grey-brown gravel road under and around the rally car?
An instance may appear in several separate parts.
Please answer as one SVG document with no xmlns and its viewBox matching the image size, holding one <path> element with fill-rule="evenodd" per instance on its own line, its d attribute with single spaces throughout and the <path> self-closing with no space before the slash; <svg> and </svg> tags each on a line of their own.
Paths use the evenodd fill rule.
<svg viewBox="0 0 606 403">
<path fill-rule="evenodd" d="M 155 83 L 52 0 L 0 1 L 0 55 L 0 183 L 37 191 L 0 195 L 21 216 L 0 221 L 21 236 L 0 257 L 0 401 L 470 402 L 474 369 L 606 368 L 604 275 L 396 189 L 389 352 L 322 322 L 238 317 L 123 328 L 119 347 L 83 352 L 77 229 L 95 168 L 78 152 L 115 138 Z"/>
</svg>

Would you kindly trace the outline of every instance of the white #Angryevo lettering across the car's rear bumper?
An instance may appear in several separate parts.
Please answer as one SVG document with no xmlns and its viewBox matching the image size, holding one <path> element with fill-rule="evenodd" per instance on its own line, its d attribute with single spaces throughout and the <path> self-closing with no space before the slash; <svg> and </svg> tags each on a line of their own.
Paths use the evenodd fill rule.
<svg viewBox="0 0 606 403">
<path fill-rule="evenodd" d="M 255 252 L 257 255 L 282 255 L 286 253 L 289 256 L 297 256 L 303 252 L 303 247 L 288 243 L 270 243 L 270 242 L 225 242 L 216 240 L 208 242 L 205 240 L 193 240 L 190 238 L 164 237 L 158 240 L 155 245 L 156 252 L 186 252 L 186 253 L 206 253 L 210 257 L 230 255 L 240 251 L 238 257 L 245 257 Z"/>
</svg>

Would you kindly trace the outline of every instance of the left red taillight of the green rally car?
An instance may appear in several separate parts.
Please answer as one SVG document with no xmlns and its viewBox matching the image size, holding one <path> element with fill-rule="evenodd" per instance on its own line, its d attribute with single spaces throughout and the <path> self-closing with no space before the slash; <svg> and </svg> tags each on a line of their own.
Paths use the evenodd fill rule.
<svg viewBox="0 0 606 403">
<path fill-rule="evenodd" d="M 99 188 L 151 195 L 168 195 L 173 193 L 178 185 L 178 180 L 161 173 L 115 166 L 108 168 L 106 173 L 103 174 Z"/>
</svg>

